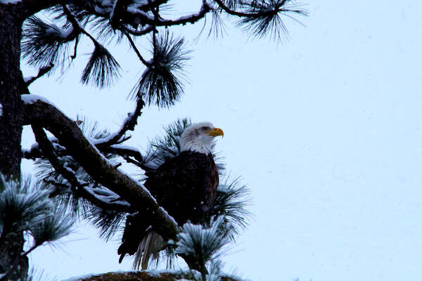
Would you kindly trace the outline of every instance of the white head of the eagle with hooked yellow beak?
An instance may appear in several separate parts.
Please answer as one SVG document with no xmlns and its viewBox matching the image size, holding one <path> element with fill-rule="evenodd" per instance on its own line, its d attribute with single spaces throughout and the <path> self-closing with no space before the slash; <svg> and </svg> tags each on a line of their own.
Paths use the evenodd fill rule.
<svg viewBox="0 0 422 281">
<path fill-rule="evenodd" d="M 181 151 L 195 151 L 204 154 L 211 152 L 212 141 L 216 136 L 224 136 L 222 129 L 210 122 L 201 122 L 188 126 L 181 134 Z"/>
</svg>

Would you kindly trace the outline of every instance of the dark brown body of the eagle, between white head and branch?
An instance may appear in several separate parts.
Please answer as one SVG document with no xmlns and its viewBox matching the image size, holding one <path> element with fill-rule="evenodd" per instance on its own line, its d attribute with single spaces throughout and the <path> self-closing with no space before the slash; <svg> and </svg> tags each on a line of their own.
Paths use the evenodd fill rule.
<svg viewBox="0 0 422 281">
<path fill-rule="evenodd" d="M 184 151 L 148 176 L 145 186 L 181 226 L 187 221 L 203 223 L 218 183 L 212 155 Z"/>
</svg>

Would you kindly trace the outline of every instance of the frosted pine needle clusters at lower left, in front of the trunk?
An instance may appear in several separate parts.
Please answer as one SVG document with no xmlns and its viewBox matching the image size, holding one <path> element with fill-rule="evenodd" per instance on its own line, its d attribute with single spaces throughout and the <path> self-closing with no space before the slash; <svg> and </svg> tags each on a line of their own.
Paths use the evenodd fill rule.
<svg viewBox="0 0 422 281">
<path fill-rule="evenodd" d="M 74 221 L 56 208 L 49 199 L 49 190 L 39 190 L 37 181 L 30 178 L 6 181 L 0 175 L 0 190 L 0 249 L 9 247 L 9 238 L 18 237 L 22 232 L 33 238 L 29 250 L 6 261 L 3 268 L 8 270 L 0 273 L 0 280 L 4 281 L 15 274 L 15 269 L 31 251 L 41 244 L 55 242 L 70 234 Z"/>
</svg>

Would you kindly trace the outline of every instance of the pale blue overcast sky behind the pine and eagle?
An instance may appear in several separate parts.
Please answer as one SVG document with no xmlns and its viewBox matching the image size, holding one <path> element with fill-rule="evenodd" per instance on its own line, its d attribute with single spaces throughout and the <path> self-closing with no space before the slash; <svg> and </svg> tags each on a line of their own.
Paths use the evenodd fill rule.
<svg viewBox="0 0 422 281">
<path fill-rule="evenodd" d="M 198 42 L 202 25 L 181 29 L 194 51 L 184 97 L 170 110 L 144 110 L 130 144 L 144 148 L 179 117 L 224 129 L 217 147 L 252 190 L 255 215 L 224 257 L 229 271 L 250 280 L 421 280 L 422 4 L 307 4 L 309 17 L 298 18 L 306 27 L 286 20 L 286 44 L 232 25 Z M 32 93 L 117 129 L 143 68 L 127 46 L 111 50 L 124 70 L 112 89 L 80 86 L 76 64 Z M 23 146 L 31 144 L 27 131 Z M 80 226 L 31 263 L 58 280 L 130 270 L 130 259 L 117 263 L 118 240 Z"/>
</svg>

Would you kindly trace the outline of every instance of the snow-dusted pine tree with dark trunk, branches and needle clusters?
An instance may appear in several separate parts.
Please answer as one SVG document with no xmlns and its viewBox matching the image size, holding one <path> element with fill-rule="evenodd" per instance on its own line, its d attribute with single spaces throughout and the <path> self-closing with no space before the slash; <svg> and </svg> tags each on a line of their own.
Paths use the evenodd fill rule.
<svg viewBox="0 0 422 281">
<path fill-rule="evenodd" d="M 283 40 L 287 34 L 283 20 L 307 13 L 293 0 L 203 0 L 197 13 L 167 19 L 162 12 L 169 4 L 177 5 L 177 1 L 0 0 L 0 174 L 3 175 L 0 209 L 15 208 L 13 214 L 0 211 L 0 273 L 3 274 L 0 280 L 27 276 L 23 233 L 31 233 L 34 247 L 39 247 L 68 233 L 70 223 L 64 223 L 63 217 L 81 216 L 101 228 L 103 237 L 107 238 L 116 233 L 127 214 L 135 212 L 153 218 L 153 227 L 164 240 L 170 241 L 167 249 L 170 256 L 190 253 L 188 256 L 200 259 L 203 270 L 198 276 L 191 273 L 189 278 L 219 280 L 222 277 L 215 253 L 245 226 L 248 211 L 241 196 L 245 187 L 237 179 L 228 178 L 224 165 L 219 163 L 220 176 L 226 181 L 220 181 L 210 223 L 177 226 L 140 181 L 117 169 L 116 159 L 147 171 L 179 152 L 178 137 L 190 122 L 186 119 L 170 124 L 166 135 L 155 138 L 145 155 L 136 148 L 121 145 L 130 137 L 128 131 L 134 130 L 144 105 L 170 107 L 181 99 L 189 51 L 183 37 L 174 35 L 171 27 L 210 18 L 210 34 L 218 34 L 223 20 L 231 18 L 252 37 Z M 65 69 L 78 58 L 82 37 L 94 45 L 86 67 L 81 70 L 83 84 L 103 88 L 122 75 L 119 63 L 106 48 L 106 41 L 127 41 L 145 66 L 131 93 L 136 105 L 134 112 L 124 119 L 118 131 L 98 130 L 98 124 L 89 126 L 87 120 L 82 120 L 82 124 L 80 120 L 75 122 L 48 100 L 28 95 L 33 81 L 60 67 Z M 136 37 L 151 41 L 150 53 L 141 51 Z M 24 79 L 21 58 L 39 70 L 37 76 Z M 20 148 L 23 126 L 32 127 L 37 141 L 30 151 L 24 152 Z M 54 138 L 47 137 L 46 131 Z M 39 169 L 39 182 L 31 185 L 32 189 L 49 200 L 37 201 L 37 192 L 25 188 L 27 183 L 20 171 L 23 157 L 34 159 Z M 21 197 L 34 201 L 34 206 L 44 208 L 46 213 L 30 218 L 25 209 L 32 205 L 25 205 L 30 204 L 25 200 L 24 205 L 19 204 L 15 199 Z M 60 215 L 49 216 L 52 209 L 60 210 Z M 10 223 L 15 218 L 19 221 L 17 217 L 26 221 L 25 227 Z M 207 249 L 196 247 L 196 243 Z"/>
</svg>

